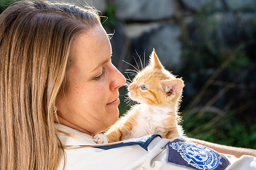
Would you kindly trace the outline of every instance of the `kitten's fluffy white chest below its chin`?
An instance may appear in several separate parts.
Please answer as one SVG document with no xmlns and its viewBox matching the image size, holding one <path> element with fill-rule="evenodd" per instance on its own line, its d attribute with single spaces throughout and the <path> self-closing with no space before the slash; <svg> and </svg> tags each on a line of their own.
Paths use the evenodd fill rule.
<svg viewBox="0 0 256 170">
<path fill-rule="evenodd" d="M 160 134 L 163 136 L 163 121 L 171 116 L 169 115 L 169 109 L 167 110 L 141 104 L 140 115 L 138 115 L 136 122 L 137 125 L 134 126 L 131 132 L 126 134 L 126 139 L 138 138 L 148 134 Z"/>
</svg>

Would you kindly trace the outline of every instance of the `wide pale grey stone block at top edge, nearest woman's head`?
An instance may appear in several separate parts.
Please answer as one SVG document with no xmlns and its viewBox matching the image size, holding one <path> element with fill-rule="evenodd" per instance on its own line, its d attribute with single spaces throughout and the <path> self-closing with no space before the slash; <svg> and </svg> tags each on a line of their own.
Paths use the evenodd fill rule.
<svg viewBox="0 0 256 170">
<path fill-rule="evenodd" d="M 161 20 L 175 14 L 174 0 L 115 0 L 115 4 L 119 19 Z"/>
</svg>

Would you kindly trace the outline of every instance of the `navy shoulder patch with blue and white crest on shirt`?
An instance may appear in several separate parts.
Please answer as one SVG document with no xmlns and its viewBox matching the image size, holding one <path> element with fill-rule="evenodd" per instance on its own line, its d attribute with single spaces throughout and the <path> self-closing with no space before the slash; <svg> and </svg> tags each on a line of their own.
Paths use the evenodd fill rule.
<svg viewBox="0 0 256 170">
<path fill-rule="evenodd" d="M 191 170 L 225 170 L 230 165 L 227 158 L 215 150 L 180 139 L 167 145 L 166 161 Z"/>
</svg>

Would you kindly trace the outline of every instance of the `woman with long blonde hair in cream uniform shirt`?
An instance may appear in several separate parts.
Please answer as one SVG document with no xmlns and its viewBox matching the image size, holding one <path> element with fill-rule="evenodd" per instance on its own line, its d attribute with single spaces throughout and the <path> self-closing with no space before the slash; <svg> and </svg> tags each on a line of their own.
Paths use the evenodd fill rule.
<svg viewBox="0 0 256 170">
<path fill-rule="evenodd" d="M 2 170 L 184 169 L 186 161 L 168 160 L 170 141 L 159 137 L 142 139 L 151 140 L 145 149 L 129 141 L 107 150 L 88 147 L 95 146 L 92 135 L 118 119 L 118 88 L 125 83 L 111 64 L 97 12 L 23 1 L 1 14 L 0 27 Z M 252 156 L 218 156 L 221 163 L 211 166 L 256 167 Z"/>
</svg>

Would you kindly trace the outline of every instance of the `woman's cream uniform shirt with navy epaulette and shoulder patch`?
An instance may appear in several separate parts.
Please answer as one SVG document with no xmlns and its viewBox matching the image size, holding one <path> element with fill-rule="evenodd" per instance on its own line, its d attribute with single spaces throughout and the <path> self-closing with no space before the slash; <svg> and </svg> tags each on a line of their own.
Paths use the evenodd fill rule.
<svg viewBox="0 0 256 170">
<path fill-rule="evenodd" d="M 66 125 L 55 124 L 65 150 L 65 170 L 256 170 L 256 158 L 218 152 L 188 141 L 161 139 L 157 135 L 107 144 Z M 83 146 L 86 146 L 83 148 Z M 95 148 L 91 146 L 99 146 Z M 62 159 L 62 170 L 64 159 Z"/>
</svg>

